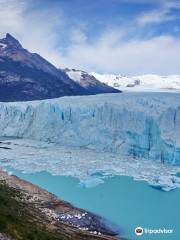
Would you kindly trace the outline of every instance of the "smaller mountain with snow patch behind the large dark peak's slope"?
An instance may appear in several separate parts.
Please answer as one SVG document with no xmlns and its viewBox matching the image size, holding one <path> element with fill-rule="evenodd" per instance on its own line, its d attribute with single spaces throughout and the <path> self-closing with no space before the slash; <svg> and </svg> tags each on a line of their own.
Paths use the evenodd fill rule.
<svg viewBox="0 0 180 240">
<path fill-rule="evenodd" d="M 66 68 L 64 71 L 72 80 L 86 89 L 90 94 L 119 92 L 115 88 L 98 81 L 93 75 L 85 71 L 69 68 Z"/>
</svg>

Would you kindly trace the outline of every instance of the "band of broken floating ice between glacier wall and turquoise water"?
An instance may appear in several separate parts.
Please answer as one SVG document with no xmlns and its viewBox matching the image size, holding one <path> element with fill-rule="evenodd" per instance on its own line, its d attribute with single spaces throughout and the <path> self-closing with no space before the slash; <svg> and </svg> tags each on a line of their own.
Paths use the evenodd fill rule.
<svg viewBox="0 0 180 240">
<path fill-rule="evenodd" d="M 11 150 L 1 149 L 0 154 L 0 165 L 6 169 L 10 167 L 25 173 L 46 171 L 53 175 L 72 176 L 85 187 L 103 184 L 115 175 L 131 176 L 138 181 L 161 186 L 166 191 L 180 187 L 178 166 L 39 141 L 12 139 L 10 142 Z"/>
</svg>

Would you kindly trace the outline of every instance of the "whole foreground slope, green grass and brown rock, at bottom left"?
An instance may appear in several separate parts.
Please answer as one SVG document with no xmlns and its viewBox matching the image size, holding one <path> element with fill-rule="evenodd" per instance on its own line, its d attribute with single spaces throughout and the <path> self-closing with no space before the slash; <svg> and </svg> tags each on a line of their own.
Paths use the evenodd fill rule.
<svg viewBox="0 0 180 240">
<path fill-rule="evenodd" d="M 116 240 L 102 219 L 0 170 L 0 233 L 14 240 Z"/>
</svg>

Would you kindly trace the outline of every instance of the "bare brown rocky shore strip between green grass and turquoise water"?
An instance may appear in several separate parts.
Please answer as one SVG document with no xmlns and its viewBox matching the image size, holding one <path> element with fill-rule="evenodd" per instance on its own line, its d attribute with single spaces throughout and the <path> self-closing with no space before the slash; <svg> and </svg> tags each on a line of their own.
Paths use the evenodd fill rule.
<svg viewBox="0 0 180 240">
<path fill-rule="evenodd" d="M 48 231 L 56 232 L 57 236 L 58 233 L 64 236 L 55 239 L 120 239 L 117 232 L 106 226 L 103 218 L 75 208 L 46 190 L 3 170 L 0 170 L 0 184 L 18 191 L 21 197 L 16 197 L 16 201 L 25 205 L 37 225 L 43 225 Z M 0 239 L 6 238 L 2 235 Z"/>
</svg>

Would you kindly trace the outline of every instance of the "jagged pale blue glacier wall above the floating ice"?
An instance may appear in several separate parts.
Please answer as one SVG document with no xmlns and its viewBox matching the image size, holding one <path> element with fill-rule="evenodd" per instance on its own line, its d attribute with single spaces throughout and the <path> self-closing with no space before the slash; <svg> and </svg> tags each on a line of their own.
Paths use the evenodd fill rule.
<svg viewBox="0 0 180 240">
<path fill-rule="evenodd" d="M 0 103 L 0 136 L 180 165 L 180 94 L 121 93 Z"/>
</svg>

